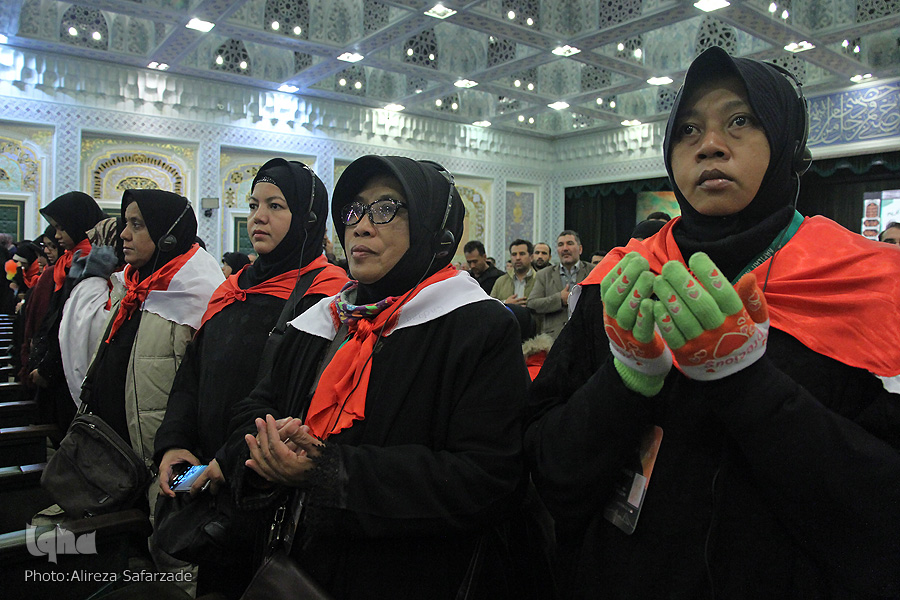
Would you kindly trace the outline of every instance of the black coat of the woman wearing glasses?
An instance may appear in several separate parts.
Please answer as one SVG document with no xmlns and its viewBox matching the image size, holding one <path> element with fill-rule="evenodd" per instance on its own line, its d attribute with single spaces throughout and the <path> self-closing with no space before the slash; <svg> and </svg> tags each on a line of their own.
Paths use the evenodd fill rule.
<svg viewBox="0 0 900 600">
<path fill-rule="evenodd" d="M 220 462 L 245 505 L 255 489 L 241 433 L 267 412 L 300 414 L 327 346 L 289 328 L 272 372 L 235 407 Z M 365 419 L 326 440 L 309 481 L 301 565 L 338 599 L 455 598 L 476 542 L 521 490 L 527 381 L 516 321 L 493 300 L 378 342 Z M 497 589 L 475 597 L 505 597 Z"/>
</svg>

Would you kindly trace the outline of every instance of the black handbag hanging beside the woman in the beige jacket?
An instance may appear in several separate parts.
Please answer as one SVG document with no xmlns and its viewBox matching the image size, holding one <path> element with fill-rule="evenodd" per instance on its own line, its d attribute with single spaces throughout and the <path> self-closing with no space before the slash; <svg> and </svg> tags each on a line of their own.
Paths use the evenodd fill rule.
<svg viewBox="0 0 900 600">
<path fill-rule="evenodd" d="M 43 487 L 75 518 L 125 510 L 147 493 L 150 470 L 97 415 L 82 412 L 44 467 Z"/>
</svg>

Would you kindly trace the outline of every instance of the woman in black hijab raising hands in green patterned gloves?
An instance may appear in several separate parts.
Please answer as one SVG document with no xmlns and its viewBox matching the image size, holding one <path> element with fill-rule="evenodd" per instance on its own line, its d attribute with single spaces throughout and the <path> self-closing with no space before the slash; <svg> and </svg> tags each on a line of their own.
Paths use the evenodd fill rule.
<svg viewBox="0 0 900 600">
<path fill-rule="evenodd" d="M 682 217 L 606 256 L 535 379 L 567 597 L 900 595 L 900 349 L 871 343 L 900 253 L 793 209 L 805 110 L 701 54 L 666 128 Z"/>
</svg>

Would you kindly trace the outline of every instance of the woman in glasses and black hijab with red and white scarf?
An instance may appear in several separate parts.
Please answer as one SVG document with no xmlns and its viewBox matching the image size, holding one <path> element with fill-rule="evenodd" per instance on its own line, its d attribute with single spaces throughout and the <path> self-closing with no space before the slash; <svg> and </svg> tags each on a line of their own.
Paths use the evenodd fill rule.
<svg viewBox="0 0 900 600">
<path fill-rule="evenodd" d="M 450 266 L 465 209 L 442 168 L 365 156 L 331 209 L 353 279 L 291 321 L 223 466 L 244 503 L 307 492 L 292 556 L 332 597 L 456 598 L 521 482 L 518 327 Z M 494 550 L 468 597 L 507 597 Z"/>
</svg>

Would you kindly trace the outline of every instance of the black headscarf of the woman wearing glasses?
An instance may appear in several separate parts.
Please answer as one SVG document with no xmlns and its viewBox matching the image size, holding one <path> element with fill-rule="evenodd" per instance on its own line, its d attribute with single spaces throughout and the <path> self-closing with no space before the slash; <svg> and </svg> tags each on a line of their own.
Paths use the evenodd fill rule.
<svg viewBox="0 0 900 600">
<path fill-rule="evenodd" d="M 375 283 L 359 285 L 358 304 L 402 296 L 453 260 L 462 237 L 466 208 L 454 186 L 450 214 L 444 226 L 453 234 L 454 242 L 447 254 L 435 256 L 435 237 L 440 233 L 451 193 L 450 181 L 440 169 L 443 167 L 437 167 L 435 163 L 402 156 L 363 156 L 350 163 L 334 186 L 331 219 L 342 243 L 346 228 L 341 222 L 341 209 L 356 198 L 372 177 L 395 177 L 409 204 L 409 250 L 384 277 Z"/>
</svg>

